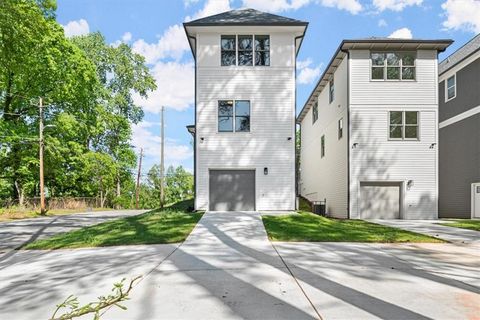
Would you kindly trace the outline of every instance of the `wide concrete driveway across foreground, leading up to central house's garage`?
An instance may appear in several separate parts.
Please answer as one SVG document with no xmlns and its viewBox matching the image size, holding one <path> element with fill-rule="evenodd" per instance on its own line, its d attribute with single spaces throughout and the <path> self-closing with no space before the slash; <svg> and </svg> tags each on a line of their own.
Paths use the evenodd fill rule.
<svg viewBox="0 0 480 320">
<path fill-rule="evenodd" d="M 20 251 L 0 258 L 0 319 L 46 319 L 144 275 L 102 319 L 475 319 L 478 248 L 275 243 L 257 213 L 207 213 L 181 245 Z"/>
</svg>

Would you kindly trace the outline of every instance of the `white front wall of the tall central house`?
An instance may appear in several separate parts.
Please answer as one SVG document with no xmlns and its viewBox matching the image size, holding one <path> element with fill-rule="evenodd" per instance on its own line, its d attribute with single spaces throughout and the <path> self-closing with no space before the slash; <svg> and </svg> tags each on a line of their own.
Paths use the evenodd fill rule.
<svg viewBox="0 0 480 320">
<path fill-rule="evenodd" d="M 222 67 L 220 36 L 229 33 L 197 35 L 197 210 L 208 209 L 209 169 L 255 169 L 256 210 L 295 209 L 294 34 L 255 31 L 270 35 L 268 67 Z M 237 34 L 252 33 L 238 27 Z M 218 100 L 224 99 L 250 100 L 250 132 L 218 132 Z"/>
</svg>

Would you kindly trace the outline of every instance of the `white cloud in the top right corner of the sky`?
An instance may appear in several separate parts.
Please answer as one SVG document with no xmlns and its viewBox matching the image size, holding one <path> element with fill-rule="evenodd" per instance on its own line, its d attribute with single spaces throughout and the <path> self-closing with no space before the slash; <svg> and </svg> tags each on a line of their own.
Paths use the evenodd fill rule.
<svg viewBox="0 0 480 320">
<path fill-rule="evenodd" d="M 480 32 L 480 1 L 447 0 L 442 9 L 447 16 L 443 22 L 445 29 Z"/>
</svg>

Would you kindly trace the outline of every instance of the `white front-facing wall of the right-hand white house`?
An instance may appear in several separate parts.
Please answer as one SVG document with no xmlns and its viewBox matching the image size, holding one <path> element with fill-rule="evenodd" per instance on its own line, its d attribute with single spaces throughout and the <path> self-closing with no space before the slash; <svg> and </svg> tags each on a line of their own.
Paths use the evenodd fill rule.
<svg viewBox="0 0 480 320">
<path fill-rule="evenodd" d="M 438 215 L 436 51 L 418 51 L 415 81 L 371 81 L 369 51 L 350 52 L 350 217 L 360 218 L 360 183 L 401 182 L 401 218 Z M 389 140 L 389 111 L 419 111 L 418 141 Z M 353 145 L 356 144 L 356 147 Z M 407 182 L 413 186 L 407 188 Z"/>
</svg>

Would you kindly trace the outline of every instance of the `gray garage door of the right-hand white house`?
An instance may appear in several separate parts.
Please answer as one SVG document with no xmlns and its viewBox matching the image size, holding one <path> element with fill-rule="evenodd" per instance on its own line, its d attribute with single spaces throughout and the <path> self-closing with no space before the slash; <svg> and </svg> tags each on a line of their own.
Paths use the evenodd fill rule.
<svg viewBox="0 0 480 320">
<path fill-rule="evenodd" d="M 400 219 L 400 186 L 392 182 L 360 183 L 360 217 Z"/>
</svg>

